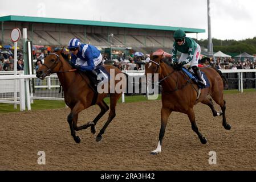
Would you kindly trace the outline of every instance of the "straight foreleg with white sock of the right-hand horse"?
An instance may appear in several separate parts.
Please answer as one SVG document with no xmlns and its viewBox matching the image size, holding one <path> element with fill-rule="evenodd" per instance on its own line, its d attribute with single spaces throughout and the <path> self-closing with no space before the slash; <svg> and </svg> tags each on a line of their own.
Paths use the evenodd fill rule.
<svg viewBox="0 0 256 182">
<path fill-rule="evenodd" d="M 167 125 L 170 113 L 172 113 L 172 110 L 170 110 L 166 107 L 162 107 L 162 109 L 161 109 L 161 129 L 160 129 L 160 133 L 159 133 L 159 142 L 157 143 L 156 150 L 153 150 L 151 152 L 152 155 L 157 155 L 161 152 L 162 138 L 164 138 L 165 127 Z"/>
</svg>

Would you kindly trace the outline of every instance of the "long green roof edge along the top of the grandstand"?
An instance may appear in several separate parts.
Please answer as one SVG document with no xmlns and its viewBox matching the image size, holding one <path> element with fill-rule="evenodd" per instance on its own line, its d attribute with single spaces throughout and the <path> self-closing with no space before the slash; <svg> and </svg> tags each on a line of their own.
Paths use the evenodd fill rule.
<svg viewBox="0 0 256 182">
<path fill-rule="evenodd" d="M 85 26 L 104 26 L 104 27 L 123 27 L 123 28 L 140 28 L 150 30 L 164 30 L 164 31 L 176 31 L 179 28 L 188 33 L 202 33 L 204 29 L 198 28 L 184 28 L 184 27 L 170 27 L 170 26 L 156 26 L 149 24 L 133 24 L 133 23 L 116 23 L 116 22 L 101 22 L 91 20 L 76 20 L 76 19 L 60 19 L 60 18 L 42 18 L 33 16 L 2 16 L 1 22 L 35 22 L 35 23 L 58 23 L 58 24 L 77 24 Z"/>
</svg>

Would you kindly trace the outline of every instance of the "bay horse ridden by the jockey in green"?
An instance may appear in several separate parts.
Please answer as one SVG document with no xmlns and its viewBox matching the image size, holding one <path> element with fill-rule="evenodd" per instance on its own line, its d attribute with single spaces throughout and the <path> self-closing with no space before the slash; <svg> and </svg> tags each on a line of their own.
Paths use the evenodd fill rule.
<svg viewBox="0 0 256 182">
<path fill-rule="evenodd" d="M 162 138 L 164 137 L 165 127 L 172 111 L 185 113 L 188 115 L 192 125 L 192 130 L 198 135 L 202 144 L 207 143 L 206 138 L 198 131 L 193 107 L 198 102 L 206 104 L 212 110 L 213 116 L 222 115 L 222 125 L 226 130 L 230 130 L 231 126 L 226 122 L 226 105 L 223 99 L 223 90 L 227 82 L 221 75 L 220 71 L 214 68 L 202 68 L 201 71 L 208 77 L 210 86 L 201 89 L 198 97 L 198 86 L 195 82 L 190 81 L 189 77 L 182 71 L 176 71 L 162 60 L 163 56 L 151 55 L 151 61 L 145 65 L 145 74 L 159 73 L 159 79 L 162 85 L 162 108 L 161 108 L 161 129 L 159 133 L 159 142 L 156 150 L 151 154 L 156 155 L 161 152 Z M 222 112 L 214 109 L 213 100 L 221 106 Z"/>
</svg>

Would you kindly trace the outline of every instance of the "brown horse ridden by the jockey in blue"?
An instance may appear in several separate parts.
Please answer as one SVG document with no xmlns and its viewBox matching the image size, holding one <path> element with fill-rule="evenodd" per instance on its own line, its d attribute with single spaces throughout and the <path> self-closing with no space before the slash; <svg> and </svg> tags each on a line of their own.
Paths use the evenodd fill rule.
<svg viewBox="0 0 256 182">
<path fill-rule="evenodd" d="M 60 84 L 64 91 L 64 100 L 68 107 L 70 107 L 71 112 L 67 117 L 67 121 L 70 125 L 71 135 L 76 143 L 80 142 L 80 137 L 76 136 L 75 131 L 87 129 L 91 127 L 91 132 L 96 133 L 95 125 L 97 121 L 108 111 L 109 107 L 104 102 L 104 98 L 107 97 L 107 93 L 99 94 L 95 99 L 95 92 L 92 86 L 90 86 L 90 80 L 84 73 L 76 71 L 69 64 L 65 55 L 62 53 L 63 49 L 55 53 L 50 53 L 44 59 L 44 64 L 42 67 L 36 71 L 36 77 L 44 79 L 44 77 L 51 75 L 51 73 L 57 73 Z M 65 57 L 65 58 L 64 58 Z M 112 65 L 104 65 L 107 72 L 112 69 L 115 76 L 118 73 L 123 74 L 119 69 L 113 67 Z M 125 76 L 124 76 L 125 77 Z M 115 85 L 120 82 L 115 80 Z M 109 89 L 111 89 L 109 87 Z M 108 93 L 109 93 L 108 89 Z M 100 130 L 96 137 L 96 141 L 102 139 L 101 135 L 104 134 L 105 129 L 116 116 L 116 103 L 119 100 L 122 93 L 111 92 L 110 97 L 110 112 L 109 117 L 103 128 Z M 93 101 L 94 100 L 94 101 Z M 78 114 L 80 111 L 87 109 L 92 105 L 98 105 L 101 109 L 100 113 L 96 116 L 94 121 L 88 122 L 83 126 L 78 126 Z"/>
</svg>

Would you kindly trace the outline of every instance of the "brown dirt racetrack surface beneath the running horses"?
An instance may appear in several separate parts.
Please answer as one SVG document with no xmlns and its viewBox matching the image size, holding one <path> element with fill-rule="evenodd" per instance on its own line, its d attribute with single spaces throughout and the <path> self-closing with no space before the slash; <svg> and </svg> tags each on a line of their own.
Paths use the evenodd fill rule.
<svg viewBox="0 0 256 182">
<path fill-rule="evenodd" d="M 207 144 L 200 143 L 185 114 L 172 113 L 159 155 L 150 152 L 159 137 L 161 101 L 117 104 L 116 118 L 99 143 L 90 129 L 78 131 L 82 141 L 75 143 L 67 108 L 0 114 L 0 170 L 256 170 L 255 98 L 255 92 L 225 95 L 229 131 L 208 106 L 196 105 Z M 82 111 L 79 124 L 99 111 L 97 106 Z M 97 133 L 107 116 L 97 123 Z M 38 151 L 46 153 L 46 165 L 38 164 Z M 216 165 L 208 162 L 210 151 L 216 151 Z"/>
</svg>

